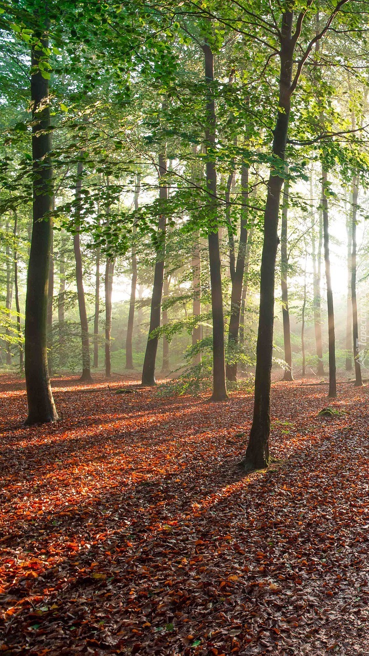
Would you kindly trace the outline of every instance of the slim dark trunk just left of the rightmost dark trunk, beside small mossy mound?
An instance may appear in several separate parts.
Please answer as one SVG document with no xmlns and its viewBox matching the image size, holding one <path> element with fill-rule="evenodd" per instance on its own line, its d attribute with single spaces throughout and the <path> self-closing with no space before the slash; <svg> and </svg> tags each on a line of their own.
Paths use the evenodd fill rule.
<svg viewBox="0 0 369 656">
<path fill-rule="evenodd" d="M 327 172 L 322 165 L 322 209 L 323 209 L 323 235 L 324 235 L 324 262 L 326 266 L 326 286 L 327 286 L 327 308 L 328 308 L 328 355 L 329 355 L 329 374 L 330 384 L 328 396 L 334 398 L 337 396 L 336 387 L 336 338 L 334 334 L 334 307 L 332 280 L 330 275 L 330 249 L 329 249 L 329 220 L 328 220 L 328 199 L 326 197 Z"/>
</svg>

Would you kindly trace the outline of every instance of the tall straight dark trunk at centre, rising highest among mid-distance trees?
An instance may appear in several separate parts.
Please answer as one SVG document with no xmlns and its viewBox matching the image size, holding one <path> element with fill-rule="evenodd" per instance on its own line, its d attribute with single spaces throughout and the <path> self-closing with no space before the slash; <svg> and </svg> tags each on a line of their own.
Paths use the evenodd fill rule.
<svg viewBox="0 0 369 656">
<path fill-rule="evenodd" d="M 205 62 L 205 79 L 207 84 L 207 127 L 205 131 L 206 152 L 215 148 L 215 100 L 213 92 L 214 56 L 210 46 L 203 46 Z M 209 194 L 209 267 L 211 284 L 211 314 L 213 316 L 213 394 L 212 401 L 224 401 L 228 398 L 225 380 L 225 342 L 223 318 L 223 293 L 221 277 L 221 253 L 219 250 L 219 232 L 217 222 L 217 171 L 214 154 L 206 162 L 206 187 Z"/>
</svg>

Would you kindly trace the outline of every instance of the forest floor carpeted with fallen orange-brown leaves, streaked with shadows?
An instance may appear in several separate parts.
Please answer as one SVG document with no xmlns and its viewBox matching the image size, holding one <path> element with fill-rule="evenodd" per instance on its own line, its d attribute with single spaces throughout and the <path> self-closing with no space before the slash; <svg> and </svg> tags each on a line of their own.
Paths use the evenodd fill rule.
<svg viewBox="0 0 369 656">
<path fill-rule="evenodd" d="M 250 395 L 53 389 L 0 377 L 1 656 L 369 655 L 369 387 L 275 382 L 248 475 Z"/>
</svg>

